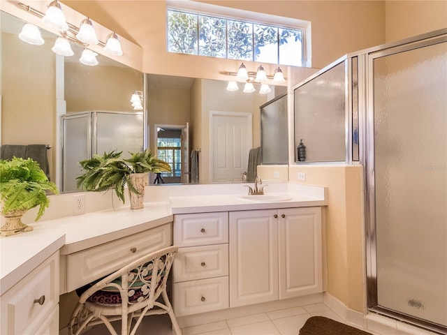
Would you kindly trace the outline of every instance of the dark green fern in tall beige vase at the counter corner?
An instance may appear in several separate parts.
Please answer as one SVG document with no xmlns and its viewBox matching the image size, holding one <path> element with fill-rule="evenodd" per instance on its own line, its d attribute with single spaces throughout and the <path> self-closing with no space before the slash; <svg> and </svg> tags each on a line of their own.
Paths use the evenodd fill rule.
<svg viewBox="0 0 447 335">
<path fill-rule="evenodd" d="M 127 186 L 131 208 L 143 208 L 145 176 L 148 172 L 170 172 L 170 165 L 156 158 L 149 149 L 130 154 L 131 158 L 124 159 L 121 158 L 122 151 L 113 150 L 80 161 L 82 169 L 86 172 L 77 178 L 78 188 L 96 192 L 114 189 L 124 204 L 124 190 Z"/>
</svg>

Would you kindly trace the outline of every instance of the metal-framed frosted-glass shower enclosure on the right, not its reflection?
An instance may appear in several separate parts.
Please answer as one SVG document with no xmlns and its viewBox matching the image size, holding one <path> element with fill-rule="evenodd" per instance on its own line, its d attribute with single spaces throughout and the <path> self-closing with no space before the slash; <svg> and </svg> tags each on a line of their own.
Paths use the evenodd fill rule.
<svg viewBox="0 0 447 335">
<path fill-rule="evenodd" d="M 447 29 L 348 54 L 294 96 L 295 161 L 365 167 L 367 308 L 447 334 Z"/>
</svg>

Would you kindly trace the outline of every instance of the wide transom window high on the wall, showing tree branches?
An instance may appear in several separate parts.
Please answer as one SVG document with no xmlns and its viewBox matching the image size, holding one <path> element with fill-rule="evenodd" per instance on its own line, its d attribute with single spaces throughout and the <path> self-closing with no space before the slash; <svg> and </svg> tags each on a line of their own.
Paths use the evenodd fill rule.
<svg viewBox="0 0 447 335">
<path fill-rule="evenodd" d="M 303 65 L 303 29 L 168 10 L 168 51 Z"/>
</svg>

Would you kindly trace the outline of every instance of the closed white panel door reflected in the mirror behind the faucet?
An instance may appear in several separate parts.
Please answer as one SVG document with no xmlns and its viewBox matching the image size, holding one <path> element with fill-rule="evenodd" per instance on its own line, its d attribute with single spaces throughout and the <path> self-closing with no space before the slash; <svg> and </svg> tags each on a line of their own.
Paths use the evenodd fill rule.
<svg viewBox="0 0 447 335">
<path fill-rule="evenodd" d="M 211 181 L 242 181 L 251 149 L 251 113 L 211 112 Z"/>
</svg>

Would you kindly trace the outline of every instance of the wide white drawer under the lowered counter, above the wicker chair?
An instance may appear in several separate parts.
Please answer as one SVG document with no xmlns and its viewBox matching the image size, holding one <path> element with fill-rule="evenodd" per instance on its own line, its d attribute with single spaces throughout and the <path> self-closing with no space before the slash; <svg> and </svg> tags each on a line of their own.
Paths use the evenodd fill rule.
<svg viewBox="0 0 447 335">
<path fill-rule="evenodd" d="M 171 240 L 171 225 L 166 224 L 67 255 L 67 292 L 110 274 L 142 255 L 170 246 Z"/>
</svg>

